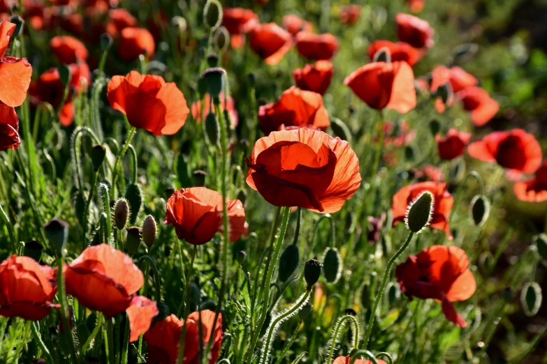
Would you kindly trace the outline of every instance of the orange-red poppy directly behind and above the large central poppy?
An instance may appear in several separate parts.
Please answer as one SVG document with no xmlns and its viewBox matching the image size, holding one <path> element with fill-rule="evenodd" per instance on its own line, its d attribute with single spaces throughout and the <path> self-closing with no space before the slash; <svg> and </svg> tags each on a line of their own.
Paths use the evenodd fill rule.
<svg viewBox="0 0 547 364">
<path fill-rule="evenodd" d="M 265 135 L 279 126 L 311 125 L 325 131 L 330 126 L 327 109 L 319 93 L 303 91 L 296 86 L 284 91 L 277 102 L 258 109 L 258 121 Z"/>
</svg>

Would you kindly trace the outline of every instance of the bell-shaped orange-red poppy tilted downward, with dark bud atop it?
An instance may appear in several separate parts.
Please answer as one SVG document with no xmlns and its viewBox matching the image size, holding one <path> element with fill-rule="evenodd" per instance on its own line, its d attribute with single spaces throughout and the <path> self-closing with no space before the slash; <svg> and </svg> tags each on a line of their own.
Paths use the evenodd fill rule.
<svg viewBox="0 0 547 364">
<path fill-rule="evenodd" d="M 406 62 L 369 63 L 353 71 L 344 84 L 374 109 L 405 114 L 416 107 L 414 73 Z"/>
</svg>

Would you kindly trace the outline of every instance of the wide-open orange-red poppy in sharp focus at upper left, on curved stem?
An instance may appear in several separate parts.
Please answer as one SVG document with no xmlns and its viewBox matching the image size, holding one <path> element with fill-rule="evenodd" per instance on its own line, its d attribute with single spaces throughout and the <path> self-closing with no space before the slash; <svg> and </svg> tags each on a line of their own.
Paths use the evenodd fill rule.
<svg viewBox="0 0 547 364">
<path fill-rule="evenodd" d="M 156 136 L 175 134 L 184 126 L 190 113 L 176 84 L 166 83 L 160 76 L 141 75 L 136 71 L 125 77 L 112 77 L 106 98 L 110 106 L 126 114 L 131 126 L 148 130 Z"/>
</svg>

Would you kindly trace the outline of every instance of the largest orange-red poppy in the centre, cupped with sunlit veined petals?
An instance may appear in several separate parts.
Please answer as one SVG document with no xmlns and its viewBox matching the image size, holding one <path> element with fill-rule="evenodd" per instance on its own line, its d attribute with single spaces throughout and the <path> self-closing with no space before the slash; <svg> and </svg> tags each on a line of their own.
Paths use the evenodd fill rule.
<svg viewBox="0 0 547 364">
<path fill-rule="evenodd" d="M 271 132 L 258 139 L 247 165 L 247 184 L 274 206 L 335 213 L 361 183 L 349 144 L 316 130 Z"/>
</svg>

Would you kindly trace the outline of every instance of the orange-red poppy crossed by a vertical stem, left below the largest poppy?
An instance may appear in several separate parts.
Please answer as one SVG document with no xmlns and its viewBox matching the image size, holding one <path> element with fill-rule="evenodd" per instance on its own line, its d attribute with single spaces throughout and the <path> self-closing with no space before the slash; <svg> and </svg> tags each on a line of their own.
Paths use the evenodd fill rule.
<svg viewBox="0 0 547 364">
<path fill-rule="evenodd" d="M 222 232 L 222 195 L 205 187 L 181 188 L 169 197 L 166 204 L 166 220 L 173 225 L 180 239 L 192 245 L 203 245 Z M 237 241 L 243 234 L 245 209 L 239 199 L 228 200 L 230 241 Z"/>
</svg>

